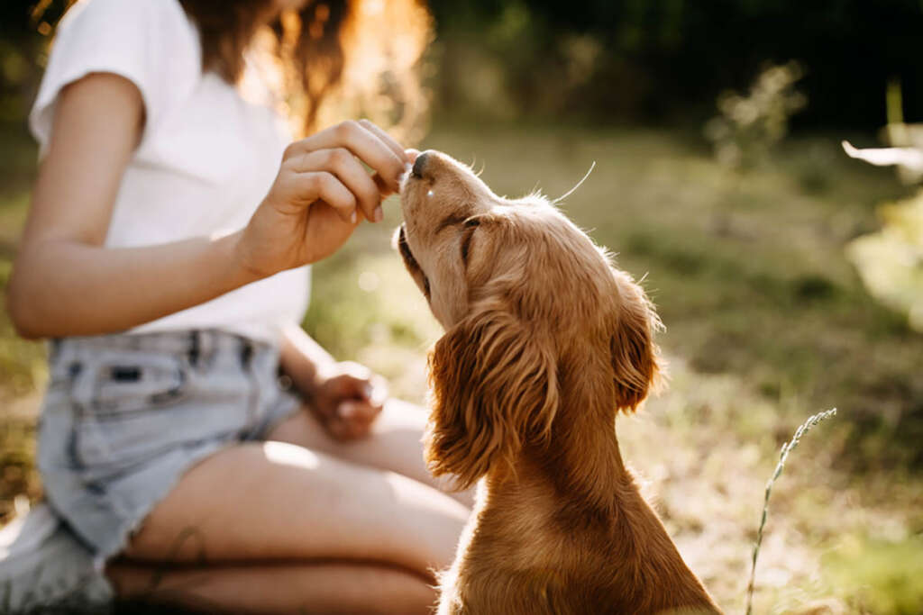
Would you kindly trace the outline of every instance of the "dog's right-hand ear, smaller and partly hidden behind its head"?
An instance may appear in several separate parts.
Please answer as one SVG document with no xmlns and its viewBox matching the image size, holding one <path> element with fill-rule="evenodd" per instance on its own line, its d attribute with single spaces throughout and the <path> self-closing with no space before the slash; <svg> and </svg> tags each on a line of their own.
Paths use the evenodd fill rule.
<svg viewBox="0 0 923 615">
<path fill-rule="evenodd" d="M 659 382 L 661 365 L 653 343 L 660 319 L 641 287 L 628 274 L 613 270 L 619 302 L 613 317 L 609 341 L 616 385 L 616 408 L 629 412 L 638 408 Z"/>
</svg>

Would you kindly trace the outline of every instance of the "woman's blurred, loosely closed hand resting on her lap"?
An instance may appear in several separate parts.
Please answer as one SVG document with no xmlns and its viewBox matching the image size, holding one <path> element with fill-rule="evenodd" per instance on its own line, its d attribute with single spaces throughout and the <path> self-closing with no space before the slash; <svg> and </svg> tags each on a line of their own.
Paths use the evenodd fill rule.
<svg viewBox="0 0 923 615">
<path fill-rule="evenodd" d="M 328 366 L 304 392 L 308 407 L 337 440 L 366 437 L 388 398 L 384 378 L 349 361 Z"/>
</svg>

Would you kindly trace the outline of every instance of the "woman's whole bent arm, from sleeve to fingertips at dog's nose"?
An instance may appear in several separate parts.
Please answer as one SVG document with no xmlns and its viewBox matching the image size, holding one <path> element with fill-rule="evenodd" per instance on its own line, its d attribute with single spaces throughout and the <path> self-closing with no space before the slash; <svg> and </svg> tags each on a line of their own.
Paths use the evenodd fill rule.
<svg viewBox="0 0 923 615">
<path fill-rule="evenodd" d="M 143 124 L 140 93 L 123 77 L 90 75 L 59 96 L 7 290 L 20 335 L 124 331 L 315 262 L 349 238 L 356 211 L 380 217 L 379 188 L 393 189 L 406 162 L 380 130 L 340 124 L 286 151 L 246 229 L 217 239 L 106 249 L 115 196 Z M 370 177 L 354 155 L 380 177 Z"/>
</svg>

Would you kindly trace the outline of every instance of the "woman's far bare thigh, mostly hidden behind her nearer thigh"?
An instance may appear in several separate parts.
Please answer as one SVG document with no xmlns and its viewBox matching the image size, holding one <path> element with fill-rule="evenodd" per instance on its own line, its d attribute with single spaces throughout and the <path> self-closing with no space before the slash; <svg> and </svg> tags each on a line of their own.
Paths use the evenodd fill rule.
<svg viewBox="0 0 923 615">
<path fill-rule="evenodd" d="M 451 480 L 434 478 L 426 469 L 420 444 L 426 428 L 426 409 L 400 399 L 389 399 L 362 440 L 340 442 L 327 434 L 308 408 L 283 420 L 267 435 L 267 440 L 304 446 L 312 451 L 334 455 L 363 466 L 397 472 L 435 487 L 466 506 L 473 504 L 472 491 L 451 492 Z"/>
</svg>

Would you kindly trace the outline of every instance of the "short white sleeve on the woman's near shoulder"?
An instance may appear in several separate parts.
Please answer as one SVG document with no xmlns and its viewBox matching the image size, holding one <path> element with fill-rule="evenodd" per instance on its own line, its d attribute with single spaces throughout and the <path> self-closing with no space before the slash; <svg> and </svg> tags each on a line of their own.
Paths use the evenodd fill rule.
<svg viewBox="0 0 923 615">
<path fill-rule="evenodd" d="M 145 134 L 200 73 L 198 34 L 178 0 L 82 0 L 55 33 L 48 66 L 29 116 L 42 153 L 62 89 L 91 73 L 131 81 L 145 106 Z M 143 137 L 142 137 L 143 140 Z"/>
</svg>

